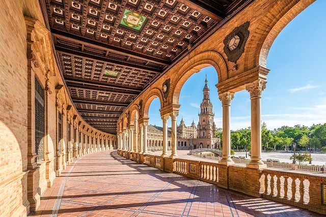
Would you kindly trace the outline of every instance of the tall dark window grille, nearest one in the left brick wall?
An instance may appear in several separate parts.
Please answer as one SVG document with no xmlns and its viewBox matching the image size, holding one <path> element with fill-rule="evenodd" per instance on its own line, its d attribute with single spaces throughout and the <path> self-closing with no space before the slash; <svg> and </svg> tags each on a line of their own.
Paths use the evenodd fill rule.
<svg viewBox="0 0 326 217">
<path fill-rule="evenodd" d="M 44 160 L 44 89 L 35 77 L 35 150 L 36 162 Z"/>
</svg>

